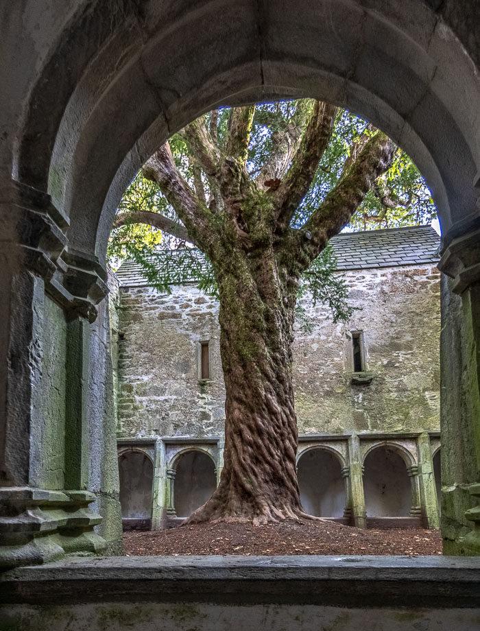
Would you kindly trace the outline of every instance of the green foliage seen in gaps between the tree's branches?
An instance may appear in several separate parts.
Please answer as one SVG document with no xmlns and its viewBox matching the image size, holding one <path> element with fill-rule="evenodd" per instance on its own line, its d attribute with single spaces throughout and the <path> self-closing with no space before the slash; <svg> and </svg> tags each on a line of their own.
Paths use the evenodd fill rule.
<svg viewBox="0 0 480 631">
<path fill-rule="evenodd" d="M 256 107 L 248 146 L 247 168 L 250 178 L 258 176 L 283 135 L 291 134 L 292 131 L 294 134 L 301 134 L 313 104 L 312 99 L 302 99 L 261 104 Z M 229 112 L 228 108 L 221 108 L 217 112 L 216 133 L 220 151 L 226 146 Z M 211 125 L 211 120 L 212 113 L 204 115 L 207 127 Z M 375 132 L 376 130 L 362 119 L 346 110 L 339 110 L 331 142 L 320 160 L 307 195 L 292 219 L 292 227 L 300 228 L 309 219 L 328 192 L 348 171 L 346 165 L 352 152 L 359 152 L 359 147 L 362 147 L 366 139 Z M 212 195 L 211 182 L 200 173 L 195 156 L 191 154 L 182 135 L 172 136 L 169 144 L 180 174 L 192 189 L 195 189 L 195 183 L 198 186 L 200 181 L 200 187 L 208 203 Z M 244 210 L 247 211 L 246 207 Z M 132 180 L 119 204 L 119 213 L 136 211 L 160 213 L 181 223 L 173 208 L 160 193 L 157 184 L 144 178 L 142 171 Z M 374 189 L 365 195 L 346 230 L 426 224 L 435 217 L 435 206 L 427 184 L 407 154 L 398 150 L 394 164 L 377 181 Z M 181 250 L 176 249 L 179 246 Z M 159 291 L 169 293 L 169 287 L 173 284 L 195 282 L 206 293 L 218 296 L 210 261 L 188 244 L 170 235 L 163 235 L 160 230 L 150 226 L 131 223 L 113 230 L 108 246 L 108 257 L 114 267 L 122 259 L 134 259 L 143 268 L 149 284 Z M 333 322 L 346 322 L 352 315 L 352 308 L 347 302 L 348 287 L 344 278 L 334 274 L 335 266 L 333 251 L 328 246 L 304 274 L 299 296 L 309 291 L 314 305 L 322 302 L 331 309 Z M 300 300 L 297 315 L 302 326 L 308 328 Z"/>
</svg>

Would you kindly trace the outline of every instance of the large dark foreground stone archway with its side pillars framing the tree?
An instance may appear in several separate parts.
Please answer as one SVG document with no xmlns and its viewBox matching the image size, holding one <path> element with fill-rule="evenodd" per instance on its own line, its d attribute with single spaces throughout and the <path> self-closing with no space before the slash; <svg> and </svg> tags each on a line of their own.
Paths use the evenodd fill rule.
<svg viewBox="0 0 480 631">
<path fill-rule="evenodd" d="M 2 10 L 0 475 L 6 497 L 23 489 L 21 503 L 8 499 L 8 511 L 36 506 L 37 488 L 47 491 L 43 508 L 62 506 L 58 523 L 73 529 L 72 509 L 87 510 L 95 492 L 101 514 L 118 512 L 110 502 L 115 461 L 107 455 L 115 422 L 104 252 L 136 169 L 213 106 L 310 96 L 382 128 L 433 191 L 444 230 L 441 267 L 454 278 L 442 288 L 442 475 L 453 511 L 445 516 L 446 550 L 480 551 L 475 533 L 456 540 L 475 522 L 475 513 L 470 520 L 464 513 L 477 502 L 470 488 L 480 462 L 480 43 L 470 27 L 477 19 L 475 2 L 454 8 L 421 0 L 401 7 L 287 0 L 281 10 L 252 0 L 184 0 L 175 8 L 72 0 L 57 12 L 39 0 Z M 12 73 L 19 60 L 21 71 Z M 46 361 L 43 344 L 56 336 Z M 49 370 L 66 374 L 58 405 L 45 386 Z M 52 432 L 69 436 L 61 453 L 47 449 Z M 118 532 L 112 538 L 101 526 L 94 534 L 99 516 L 88 514 L 88 550 L 106 546 L 99 533 L 113 549 Z M 23 562 L 38 558 L 36 534 L 28 532 Z M 73 539 L 59 550 L 52 535 L 42 554 L 75 549 Z"/>
</svg>

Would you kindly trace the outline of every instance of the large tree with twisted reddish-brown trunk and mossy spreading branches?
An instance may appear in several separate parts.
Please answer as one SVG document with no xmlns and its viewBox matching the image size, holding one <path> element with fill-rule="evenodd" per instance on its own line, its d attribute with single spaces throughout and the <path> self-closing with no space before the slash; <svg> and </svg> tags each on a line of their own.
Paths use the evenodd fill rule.
<svg viewBox="0 0 480 631">
<path fill-rule="evenodd" d="M 140 224 L 193 243 L 217 287 L 224 469 L 190 522 L 303 515 L 291 353 L 300 283 L 306 273 L 318 280 L 315 261 L 366 195 L 380 222 L 383 209 L 411 203 L 389 187 L 394 143 L 363 121 L 345 132 L 345 117 L 311 99 L 210 112 L 145 163 L 141 177 L 161 192 L 155 211 L 133 202 L 117 215 L 114 227 L 130 236 Z"/>
</svg>

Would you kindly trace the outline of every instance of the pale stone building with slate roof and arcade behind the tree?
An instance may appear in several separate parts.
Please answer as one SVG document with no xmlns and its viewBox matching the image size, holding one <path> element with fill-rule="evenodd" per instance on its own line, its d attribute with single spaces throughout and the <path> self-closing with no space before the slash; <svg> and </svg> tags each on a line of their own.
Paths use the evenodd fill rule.
<svg viewBox="0 0 480 631">
<path fill-rule="evenodd" d="M 302 306 L 294 386 L 304 509 L 346 524 L 438 527 L 440 237 L 430 226 L 332 239 L 357 310 Z M 175 252 L 162 256 L 171 258 Z M 112 284 L 115 283 L 112 278 Z M 210 497 L 222 467 L 218 302 L 117 272 L 118 449 L 126 527 L 167 527 Z M 436 474 L 436 475 L 435 475 Z"/>
</svg>

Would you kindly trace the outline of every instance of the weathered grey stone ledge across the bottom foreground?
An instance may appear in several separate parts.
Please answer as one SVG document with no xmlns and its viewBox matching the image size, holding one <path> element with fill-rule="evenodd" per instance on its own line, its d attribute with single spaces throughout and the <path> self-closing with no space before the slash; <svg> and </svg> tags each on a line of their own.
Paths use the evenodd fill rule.
<svg viewBox="0 0 480 631">
<path fill-rule="evenodd" d="M 2 604 L 98 602 L 480 608 L 480 558 L 70 558 L 0 579 Z"/>
</svg>

